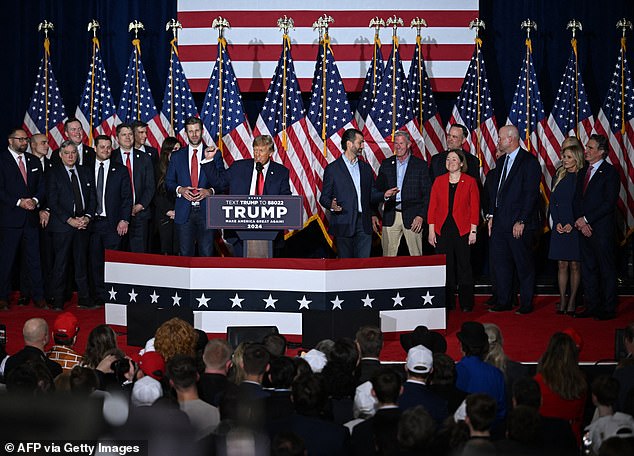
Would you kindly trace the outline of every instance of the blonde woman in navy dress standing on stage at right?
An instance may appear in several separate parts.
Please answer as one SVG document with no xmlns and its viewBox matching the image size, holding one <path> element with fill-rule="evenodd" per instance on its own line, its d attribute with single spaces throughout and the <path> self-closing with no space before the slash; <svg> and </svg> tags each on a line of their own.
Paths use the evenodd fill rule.
<svg viewBox="0 0 634 456">
<path fill-rule="evenodd" d="M 572 213 L 572 200 L 577 183 L 577 172 L 583 168 L 583 148 L 575 137 L 566 138 L 562 144 L 561 167 L 553 183 L 550 194 L 550 217 L 552 234 L 548 258 L 557 260 L 560 301 L 557 313 L 572 315 L 575 313 L 577 290 L 581 281 L 579 260 L 579 232 L 575 229 Z M 570 297 L 566 296 L 570 279 Z"/>
</svg>

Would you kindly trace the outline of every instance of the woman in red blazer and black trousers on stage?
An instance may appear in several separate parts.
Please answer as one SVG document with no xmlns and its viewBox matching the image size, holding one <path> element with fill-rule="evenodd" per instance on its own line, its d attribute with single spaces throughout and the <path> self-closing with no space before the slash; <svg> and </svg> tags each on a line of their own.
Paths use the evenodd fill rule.
<svg viewBox="0 0 634 456">
<path fill-rule="evenodd" d="M 447 255 L 445 300 L 455 307 L 455 294 L 463 312 L 473 309 L 473 271 L 469 246 L 476 241 L 480 218 L 480 193 L 469 176 L 464 152 L 452 149 L 447 155 L 447 174 L 434 180 L 429 197 L 427 222 L 429 243 Z"/>
</svg>

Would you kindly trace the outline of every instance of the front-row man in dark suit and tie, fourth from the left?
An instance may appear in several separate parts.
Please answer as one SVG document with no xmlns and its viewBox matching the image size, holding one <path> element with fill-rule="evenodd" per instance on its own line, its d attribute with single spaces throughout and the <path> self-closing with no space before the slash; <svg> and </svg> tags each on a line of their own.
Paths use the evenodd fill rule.
<svg viewBox="0 0 634 456">
<path fill-rule="evenodd" d="M 112 151 L 111 161 L 128 168 L 132 187 L 132 217 L 128 226 L 128 248 L 131 252 L 146 253 L 150 233 L 150 203 L 156 189 L 154 167 L 149 155 L 134 149 L 134 133 L 129 124 L 117 125 L 119 147 Z"/>
</svg>

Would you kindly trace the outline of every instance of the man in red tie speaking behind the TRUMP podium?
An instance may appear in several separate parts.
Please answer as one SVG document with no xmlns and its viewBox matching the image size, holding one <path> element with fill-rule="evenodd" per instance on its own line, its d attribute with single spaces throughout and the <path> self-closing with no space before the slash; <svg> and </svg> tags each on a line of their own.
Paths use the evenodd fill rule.
<svg viewBox="0 0 634 456">
<path fill-rule="evenodd" d="M 260 135 L 253 140 L 252 159 L 238 160 L 225 170 L 222 155 L 209 151 L 206 160 L 213 158 L 211 164 L 205 164 L 204 171 L 213 187 L 229 195 L 290 195 L 288 169 L 284 165 L 271 161 L 275 152 L 275 143 L 269 135 Z M 243 256 L 242 241 L 232 230 L 225 231 L 225 238 L 233 245 L 235 256 Z M 275 248 L 279 251 L 284 236 L 280 232 Z"/>
</svg>

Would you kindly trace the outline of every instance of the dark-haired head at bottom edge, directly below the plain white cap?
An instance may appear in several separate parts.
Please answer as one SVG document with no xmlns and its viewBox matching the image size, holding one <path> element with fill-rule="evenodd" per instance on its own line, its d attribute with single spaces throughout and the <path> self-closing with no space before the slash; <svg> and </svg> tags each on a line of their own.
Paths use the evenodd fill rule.
<svg viewBox="0 0 634 456">
<path fill-rule="evenodd" d="M 424 454 L 435 432 L 436 422 L 425 407 L 404 410 L 398 421 L 398 447 L 407 454 Z"/>
</svg>

